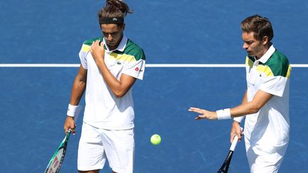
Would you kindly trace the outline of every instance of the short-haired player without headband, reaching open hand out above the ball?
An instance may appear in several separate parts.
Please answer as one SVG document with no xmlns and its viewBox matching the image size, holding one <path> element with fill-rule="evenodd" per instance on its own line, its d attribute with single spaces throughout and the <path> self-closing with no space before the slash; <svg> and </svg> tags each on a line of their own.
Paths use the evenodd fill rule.
<svg viewBox="0 0 308 173">
<path fill-rule="evenodd" d="M 234 117 L 230 140 L 241 139 L 240 122 L 245 117 L 245 147 L 250 172 L 278 172 L 289 143 L 289 77 L 291 67 L 284 54 L 274 48 L 272 24 L 262 16 L 241 23 L 243 48 L 247 51 L 247 90 L 242 104 L 211 112 L 190 108 L 197 120 Z"/>
</svg>

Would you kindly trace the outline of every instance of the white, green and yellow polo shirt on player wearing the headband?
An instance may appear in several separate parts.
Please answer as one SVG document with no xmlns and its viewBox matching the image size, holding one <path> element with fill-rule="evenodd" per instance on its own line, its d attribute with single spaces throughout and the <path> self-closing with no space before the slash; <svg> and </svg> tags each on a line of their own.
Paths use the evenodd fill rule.
<svg viewBox="0 0 308 173">
<path fill-rule="evenodd" d="M 93 127 L 107 130 L 126 130 L 134 127 L 134 105 L 132 88 L 122 98 L 116 98 L 106 84 L 101 71 L 90 52 L 93 41 L 101 40 L 105 45 L 105 63 L 111 73 L 120 80 L 121 74 L 142 80 L 145 70 L 145 54 L 139 46 L 123 36 L 116 50 L 109 51 L 103 37 L 83 42 L 79 57 L 87 69 L 86 108 L 83 121 Z"/>
</svg>

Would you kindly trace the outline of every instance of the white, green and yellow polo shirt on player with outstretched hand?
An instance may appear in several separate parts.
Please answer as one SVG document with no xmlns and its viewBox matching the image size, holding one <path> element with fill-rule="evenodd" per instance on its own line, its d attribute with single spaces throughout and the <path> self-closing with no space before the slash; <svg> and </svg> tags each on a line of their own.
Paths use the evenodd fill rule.
<svg viewBox="0 0 308 173">
<path fill-rule="evenodd" d="M 247 101 L 258 90 L 274 95 L 259 112 L 246 115 L 244 135 L 252 145 L 282 146 L 289 141 L 289 76 L 287 57 L 270 46 L 259 60 L 246 57 Z"/>
</svg>

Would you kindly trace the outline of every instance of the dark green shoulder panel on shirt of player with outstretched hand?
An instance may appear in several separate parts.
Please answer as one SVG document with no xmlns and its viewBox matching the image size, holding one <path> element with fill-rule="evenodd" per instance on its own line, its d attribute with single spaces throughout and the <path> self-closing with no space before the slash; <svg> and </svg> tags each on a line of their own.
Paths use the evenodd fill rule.
<svg viewBox="0 0 308 173">
<path fill-rule="evenodd" d="M 268 61 L 262 65 L 267 65 L 272 70 L 272 75 L 289 78 L 291 66 L 289 60 L 280 51 L 274 51 Z"/>
</svg>

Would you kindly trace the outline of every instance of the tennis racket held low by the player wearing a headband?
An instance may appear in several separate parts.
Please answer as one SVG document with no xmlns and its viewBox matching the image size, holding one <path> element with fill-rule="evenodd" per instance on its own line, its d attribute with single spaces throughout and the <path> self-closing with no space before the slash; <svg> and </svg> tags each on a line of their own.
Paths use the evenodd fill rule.
<svg viewBox="0 0 308 173">
<path fill-rule="evenodd" d="M 68 145 L 68 138 L 70 137 L 70 135 L 71 135 L 71 130 L 68 130 L 68 132 L 66 132 L 66 136 L 58 146 L 58 149 L 53 154 L 53 157 L 51 157 L 51 160 L 49 161 L 46 167 L 45 173 L 59 172 L 66 154 L 66 147 Z"/>
</svg>

